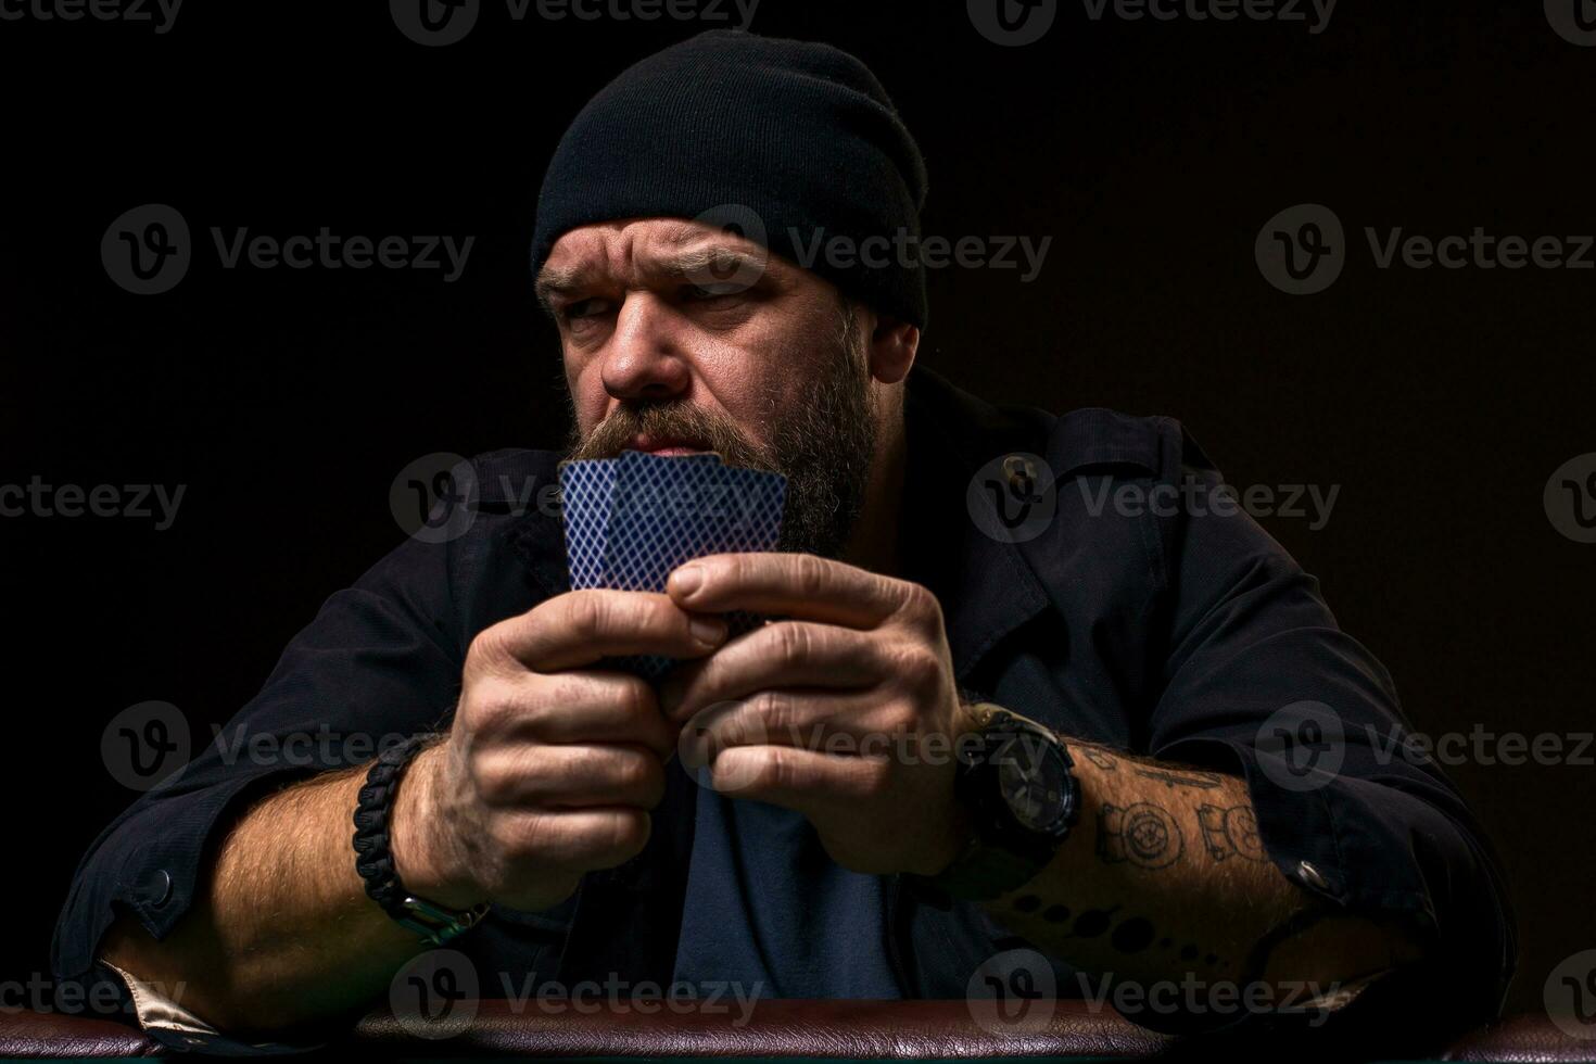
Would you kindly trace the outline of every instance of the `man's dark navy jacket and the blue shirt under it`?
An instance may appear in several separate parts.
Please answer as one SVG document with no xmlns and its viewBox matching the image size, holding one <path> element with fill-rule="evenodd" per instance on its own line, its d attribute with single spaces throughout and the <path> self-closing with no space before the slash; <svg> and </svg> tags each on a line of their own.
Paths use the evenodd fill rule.
<svg viewBox="0 0 1596 1064">
<path fill-rule="evenodd" d="M 1404 984 L 1409 1008 L 1428 992 L 1451 1018 L 1497 1015 L 1516 930 L 1491 844 L 1438 767 L 1389 747 L 1382 756 L 1411 726 L 1317 581 L 1245 512 L 1187 506 L 1183 485 L 1211 488 L 1219 474 L 1179 423 L 999 408 L 918 367 L 907 426 L 902 574 L 940 600 L 961 688 L 1066 737 L 1243 777 L 1259 839 L 1288 877 L 1430 936 L 1435 964 Z M 1033 538 L 972 520 L 972 479 L 1007 455 L 1034 455 L 1057 479 L 1053 514 Z M 469 528 L 447 542 L 412 538 L 332 595 L 223 731 L 228 743 L 239 726 L 278 740 L 330 734 L 316 743 L 324 763 L 211 747 L 94 841 L 56 928 L 59 979 L 107 978 L 96 951 L 118 909 L 168 935 L 195 898 L 207 842 L 249 801 L 361 764 L 373 739 L 447 724 L 472 636 L 568 589 L 559 515 L 520 502 L 536 499 L 528 479 L 555 483 L 557 461 L 527 450 L 474 459 Z M 1103 506 L 1124 488 L 1165 506 Z M 1266 770 L 1277 755 L 1261 745 L 1272 715 L 1301 703 L 1342 726 L 1339 766 L 1310 788 Z M 450 946 L 490 997 L 528 979 L 966 997 L 977 968 L 1017 944 L 974 904 L 943 911 L 897 876 L 838 868 L 801 817 L 702 790 L 677 758 L 643 853 L 589 873 L 546 912 L 493 908 Z M 1050 960 L 1071 994 L 1068 957 Z"/>
</svg>

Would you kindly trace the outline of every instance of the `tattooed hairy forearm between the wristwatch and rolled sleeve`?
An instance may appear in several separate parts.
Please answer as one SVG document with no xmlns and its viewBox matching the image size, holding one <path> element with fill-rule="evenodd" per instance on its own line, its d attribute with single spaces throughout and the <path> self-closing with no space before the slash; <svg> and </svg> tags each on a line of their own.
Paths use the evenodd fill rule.
<svg viewBox="0 0 1596 1064">
<path fill-rule="evenodd" d="M 1243 780 L 1066 743 L 1082 790 L 1076 828 L 1041 876 L 988 904 L 1015 933 L 1141 984 L 1329 991 L 1414 956 L 1395 928 L 1320 916 L 1266 853 Z"/>
</svg>

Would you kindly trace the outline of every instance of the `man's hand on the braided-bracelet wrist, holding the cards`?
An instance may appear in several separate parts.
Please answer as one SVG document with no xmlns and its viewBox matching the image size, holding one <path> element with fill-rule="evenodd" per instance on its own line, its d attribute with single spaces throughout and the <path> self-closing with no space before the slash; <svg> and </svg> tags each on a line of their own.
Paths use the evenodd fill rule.
<svg viewBox="0 0 1596 1064">
<path fill-rule="evenodd" d="M 401 882 L 448 906 L 547 909 L 583 873 L 648 842 L 677 727 L 606 656 L 701 657 L 718 617 L 666 595 L 579 590 L 485 629 L 471 643 L 448 740 L 423 751 L 394 807 Z"/>
</svg>

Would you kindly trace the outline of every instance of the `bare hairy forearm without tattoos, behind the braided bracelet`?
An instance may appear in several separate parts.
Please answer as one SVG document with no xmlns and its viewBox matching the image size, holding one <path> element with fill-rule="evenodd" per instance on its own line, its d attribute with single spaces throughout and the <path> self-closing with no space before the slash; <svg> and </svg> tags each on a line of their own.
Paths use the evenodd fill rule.
<svg viewBox="0 0 1596 1064">
<path fill-rule="evenodd" d="M 396 823 L 397 806 L 421 798 L 418 766 L 399 788 Z M 354 869 L 364 778 L 364 769 L 327 774 L 255 802 L 172 933 L 158 943 L 123 917 L 105 959 L 142 981 L 180 984 L 177 1003 L 227 1034 L 278 1032 L 380 995 L 423 943 L 365 895 Z"/>
</svg>

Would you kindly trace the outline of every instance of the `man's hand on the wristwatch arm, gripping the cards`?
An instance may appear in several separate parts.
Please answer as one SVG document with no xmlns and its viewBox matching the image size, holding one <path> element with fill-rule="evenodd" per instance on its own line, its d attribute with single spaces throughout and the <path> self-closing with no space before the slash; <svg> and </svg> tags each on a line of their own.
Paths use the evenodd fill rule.
<svg viewBox="0 0 1596 1064">
<path fill-rule="evenodd" d="M 718 791 L 785 806 L 860 873 L 958 855 L 953 740 L 967 727 L 942 608 L 918 584 L 808 554 L 723 554 L 670 574 L 683 609 L 785 617 L 661 686 L 683 761 Z"/>
</svg>

